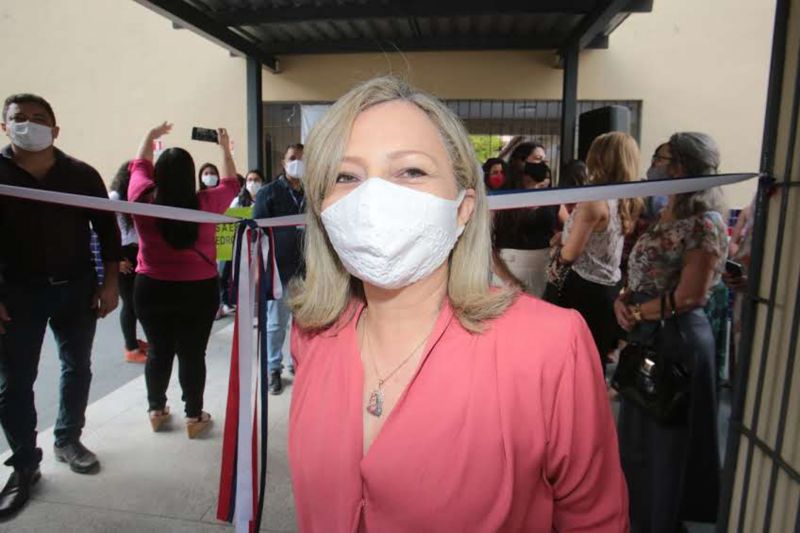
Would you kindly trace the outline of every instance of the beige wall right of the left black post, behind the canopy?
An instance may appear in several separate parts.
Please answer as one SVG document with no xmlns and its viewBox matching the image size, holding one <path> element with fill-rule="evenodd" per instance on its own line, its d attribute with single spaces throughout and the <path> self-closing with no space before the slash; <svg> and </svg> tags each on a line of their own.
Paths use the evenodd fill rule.
<svg viewBox="0 0 800 533">
<path fill-rule="evenodd" d="M 758 170 L 774 1 L 654 4 L 630 16 L 609 49 L 582 54 L 578 97 L 642 100 L 645 156 L 674 131 L 699 130 L 719 142 L 723 172 Z M 551 52 L 520 51 L 294 56 L 281 59 L 282 73 L 265 75 L 263 93 L 267 101 L 333 100 L 394 73 L 442 98 L 560 99 L 554 61 Z M 754 189 L 730 187 L 730 203 L 747 203 Z"/>
</svg>

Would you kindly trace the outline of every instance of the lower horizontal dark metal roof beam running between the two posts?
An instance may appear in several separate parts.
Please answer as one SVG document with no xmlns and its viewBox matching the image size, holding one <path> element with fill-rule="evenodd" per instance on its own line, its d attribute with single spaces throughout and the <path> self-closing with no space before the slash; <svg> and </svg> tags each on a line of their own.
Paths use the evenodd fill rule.
<svg viewBox="0 0 800 533">
<path fill-rule="evenodd" d="M 554 50 L 562 42 L 556 37 L 471 35 L 411 37 L 402 39 L 344 39 L 341 41 L 307 41 L 276 43 L 267 52 L 290 54 L 346 54 L 358 52 L 413 52 L 430 50 Z M 598 44 L 602 46 L 603 42 Z"/>
</svg>

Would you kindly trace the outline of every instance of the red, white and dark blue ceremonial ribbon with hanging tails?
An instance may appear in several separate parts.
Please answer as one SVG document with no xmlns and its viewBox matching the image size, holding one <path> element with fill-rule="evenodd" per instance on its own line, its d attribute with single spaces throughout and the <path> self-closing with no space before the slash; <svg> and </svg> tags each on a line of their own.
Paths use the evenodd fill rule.
<svg viewBox="0 0 800 533">
<path fill-rule="evenodd" d="M 489 208 L 492 210 L 575 204 L 616 198 L 687 193 L 730 185 L 756 176 L 757 174 L 719 174 L 562 189 L 510 191 L 493 194 L 488 200 Z M 265 303 L 267 300 L 278 299 L 283 294 L 275 261 L 272 229 L 303 225 L 306 216 L 238 219 L 192 209 L 10 185 L 0 185 L 0 196 L 201 224 L 238 224 L 233 256 L 234 287 L 238 305 L 231 346 L 217 518 L 233 522 L 237 533 L 257 531 L 264 508 L 267 473 L 268 369 Z M 262 232 L 259 228 L 265 231 Z M 254 302 L 256 294 L 259 298 Z M 254 304 L 257 304 L 258 308 L 257 351 L 253 347 L 252 336 Z M 258 368 L 255 379 L 254 364 Z"/>
</svg>

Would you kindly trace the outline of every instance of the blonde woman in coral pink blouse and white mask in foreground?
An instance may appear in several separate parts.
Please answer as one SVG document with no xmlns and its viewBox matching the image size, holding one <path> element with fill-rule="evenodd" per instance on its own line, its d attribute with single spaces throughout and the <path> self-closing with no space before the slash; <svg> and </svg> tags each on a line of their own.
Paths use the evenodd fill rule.
<svg viewBox="0 0 800 533">
<path fill-rule="evenodd" d="M 591 333 L 489 285 L 485 185 L 458 118 L 377 78 L 307 150 L 288 443 L 300 531 L 627 531 Z"/>
</svg>

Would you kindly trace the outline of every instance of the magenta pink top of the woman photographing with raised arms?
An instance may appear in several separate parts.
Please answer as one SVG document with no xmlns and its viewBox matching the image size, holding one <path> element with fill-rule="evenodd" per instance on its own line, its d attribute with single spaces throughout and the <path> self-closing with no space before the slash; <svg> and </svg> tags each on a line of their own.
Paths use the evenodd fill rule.
<svg viewBox="0 0 800 533">
<path fill-rule="evenodd" d="M 147 159 L 134 159 L 129 169 L 128 201 L 151 202 L 148 193 L 156 186 L 153 163 Z M 202 211 L 221 214 L 237 194 L 239 180 L 231 176 L 223 178 L 216 187 L 197 191 L 197 202 Z M 215 224 L 200 224 L 194 247 L 176 250 L 161 236 L 155 218 L 134 215 L 133 223 L 139 234 L 137 273 L 164 281 L 198 281 L 217 275 Z"/>
</svg>

